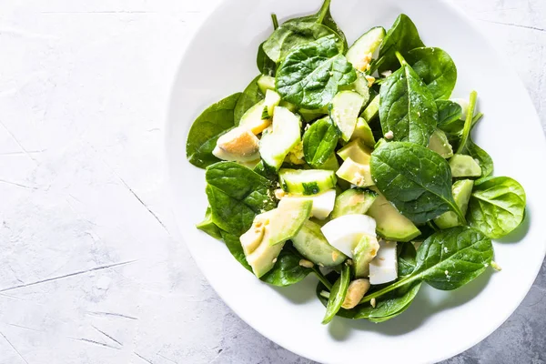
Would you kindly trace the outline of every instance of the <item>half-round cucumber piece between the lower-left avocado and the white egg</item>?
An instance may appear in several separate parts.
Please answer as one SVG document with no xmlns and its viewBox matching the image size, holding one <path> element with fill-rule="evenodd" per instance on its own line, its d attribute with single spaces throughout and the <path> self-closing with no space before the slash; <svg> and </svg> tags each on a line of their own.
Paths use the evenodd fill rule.
<svg viewBox="0 0 546 364">
<path fill-rule="evenodd" d="M 347 259 L 345 254 L 329 245 L 320 231 L 320 225 L 310 220 L 303 223 L 298 234 L 292 238 L 292 244 L 299 254 L 321 267 L 335 267 Z"/>
</svg>

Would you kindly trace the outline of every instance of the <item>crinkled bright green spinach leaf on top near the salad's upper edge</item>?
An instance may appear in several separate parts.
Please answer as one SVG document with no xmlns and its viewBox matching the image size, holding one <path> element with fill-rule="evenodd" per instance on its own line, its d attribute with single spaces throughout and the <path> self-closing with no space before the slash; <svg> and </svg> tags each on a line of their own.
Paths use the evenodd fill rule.
<svg viewBox="0 0 546 364">
<path fill-rule="evenodd" d="M 283 100 L 308 109 L 328 105 L 338 87 L 357 79 L 353 66 L 339 54 L 333 35 L 302 45 L 279 66 L 276 88 Z"/>
</svg>

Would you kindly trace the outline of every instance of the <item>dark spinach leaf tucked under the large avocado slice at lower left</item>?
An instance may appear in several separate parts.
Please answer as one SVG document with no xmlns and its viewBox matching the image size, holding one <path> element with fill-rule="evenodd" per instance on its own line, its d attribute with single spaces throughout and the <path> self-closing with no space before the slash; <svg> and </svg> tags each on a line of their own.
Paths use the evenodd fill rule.
<svg viewBox="0 0 546 364">
<path fill-rule="evenodd" d="M 299 260 L 301 259 L 303 257 L 294 248 L 285 246 L 280 251 L 275 266 L 260 279 L 278 287 L 287 287 L 298 283 L 313 271 L 312 268 L 300 266 Z"/>
</svg>

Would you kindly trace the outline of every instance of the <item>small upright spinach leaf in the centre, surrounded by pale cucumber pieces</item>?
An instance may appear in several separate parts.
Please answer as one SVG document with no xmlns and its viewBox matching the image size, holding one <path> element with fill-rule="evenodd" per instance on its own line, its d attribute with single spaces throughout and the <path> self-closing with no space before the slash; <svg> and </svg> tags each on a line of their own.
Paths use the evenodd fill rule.
<svg viewBox="0 0 546 364">
<path fill-rule="evenodd" d="M 313 168 L 323 165 L 338 146 L 341 136 L 338 126 L 329 117 L 317 120 L 303 135 L 303 155 Z"/>
</svg>

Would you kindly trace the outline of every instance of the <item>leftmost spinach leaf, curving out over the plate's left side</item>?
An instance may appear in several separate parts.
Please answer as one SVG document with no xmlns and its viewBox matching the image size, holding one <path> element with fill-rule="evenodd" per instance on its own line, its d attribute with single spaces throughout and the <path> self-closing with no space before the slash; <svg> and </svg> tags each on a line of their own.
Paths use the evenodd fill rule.
<svg viewBox="0 0 546 364">
<path fill-rule="evenodd" d="M 241 93 L 233 94 L 208 106 L 194 121 L 187 134 L 186 157 L 189 163 L 205 168 L 219 161 L 213 156 L 212 150 L 216 147 L 218 137 L 235 125 L 233 109 L 239 96 Z"/>
</svg>

